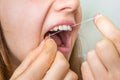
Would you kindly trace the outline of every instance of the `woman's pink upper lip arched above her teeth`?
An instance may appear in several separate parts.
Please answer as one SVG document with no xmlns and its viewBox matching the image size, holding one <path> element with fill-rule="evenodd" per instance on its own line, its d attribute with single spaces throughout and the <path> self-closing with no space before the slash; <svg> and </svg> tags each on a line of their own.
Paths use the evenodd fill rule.
<svg viewBox="0 0 120 80">
<path fill-rule="evenodd" d="M 70 25 L 71 27 L 73 27 L 72 25 L 74 25 L 74 24 L 75 24 L 75 21 L 72 21 L 72 20 L 62 20 L 62 21 L 60 21 L 60 22 L 58 22 L 58 23 L 50 26 L 50 27 L 46 30 L 45 34 L 46 34 L 48 31 L 50 31 L 51 29 L 53 29 L 54 27 L 56 27 L 56 26 L 60 26 L 60 25 Z"/>
</svg>

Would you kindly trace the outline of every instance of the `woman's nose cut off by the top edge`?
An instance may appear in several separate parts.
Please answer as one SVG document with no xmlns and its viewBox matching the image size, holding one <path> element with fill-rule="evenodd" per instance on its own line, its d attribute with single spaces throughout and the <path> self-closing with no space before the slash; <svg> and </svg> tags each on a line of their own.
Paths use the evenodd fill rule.
<svg viewBox="0 0 120 80">
<path fill-rule="evenodd" d="M 80 6 L 80 0 L 56 0 L 55 10 L 56 11 L 67 11 L 74 12 Z"/>
</svg>

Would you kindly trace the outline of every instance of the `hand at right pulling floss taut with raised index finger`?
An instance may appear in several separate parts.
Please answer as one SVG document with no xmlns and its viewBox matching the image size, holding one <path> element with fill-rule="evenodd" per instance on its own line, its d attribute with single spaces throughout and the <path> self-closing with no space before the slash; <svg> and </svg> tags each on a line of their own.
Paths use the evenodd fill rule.
<svg viewBox="0 0 120 80">
<path fill-rule="evenodd" d="M 104 37 L 82 64 L 83 80 L 120 80 L 120 29 L 102 15 L 95 24 Z"/>
</svg>

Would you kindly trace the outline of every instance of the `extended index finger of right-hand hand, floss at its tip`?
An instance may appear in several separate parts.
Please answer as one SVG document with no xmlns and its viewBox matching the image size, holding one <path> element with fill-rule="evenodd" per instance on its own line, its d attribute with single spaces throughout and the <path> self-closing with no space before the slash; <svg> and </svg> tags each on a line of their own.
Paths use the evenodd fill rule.
<svg viewBox="0 0 120 80">
<path fill-rule="evenodd" d="M 100 32 L 115 44 L 120 53 L 120 30 L 107 17 L 102 15 L 95 17 L 95 24 Z"/>
</svg>

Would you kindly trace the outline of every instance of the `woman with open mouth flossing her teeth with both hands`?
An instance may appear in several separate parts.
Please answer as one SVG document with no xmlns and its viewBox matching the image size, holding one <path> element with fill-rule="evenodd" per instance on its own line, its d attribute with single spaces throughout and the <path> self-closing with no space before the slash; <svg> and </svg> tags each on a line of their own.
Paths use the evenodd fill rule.
<svg viewBox="0 0 120 80">
<path fill-rule="evenodd" d="M 79 26 L 71 26 L 81 20 L 79 7 L 79 0 L 0 0 L 0 62 L 2 64 L 0 79 L 77 80 L 78 77 L 81 79 L 81 61 L 76 52 L 79 47 L 76 48 L 75 45 L 73 49 Z M 83 79 L 98 80 L 100 76 L 103 80 L 118 80 L 119 72 L 118 75 L 109 72 L 106 65 L 111 62 L 114 64 L 111 69 L 120 71 L 118 67 L 120 62 L 116 60 L 118 59 L 116 49 L 119 50 L 119 46 L 116 45 L 119 45 L 120 32 L 113 25 L 111 26 L 105 17 L 98 16 L 95 17 L 95 24 L 106 38 L 99 42 L 96 49 L 88 54 L 87 61 L 82 64 Z M 106 29 L 104 26 L 110 27 Z M 49 36 L 57 30 L 61 32 Z M 115 31 L 114 34 L 111 34 L 111 30 Z M 104 44 L 105 47 L 101 48 Z M 109 50 L 111 54 L 108 54 L 107 49 L 114 52 Z M 107 54 L 103 55 L 104 52 Z M 105 63 L 108 60 L 109 62 Z M 116 62 L 113 63 L 112 60 Z M 92 65 L 95 63 L 98 65 Z M 106 74 L 102 75 L 103 72 Z"/>
</svg>

